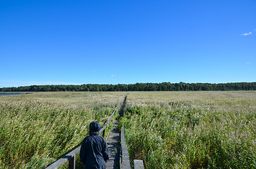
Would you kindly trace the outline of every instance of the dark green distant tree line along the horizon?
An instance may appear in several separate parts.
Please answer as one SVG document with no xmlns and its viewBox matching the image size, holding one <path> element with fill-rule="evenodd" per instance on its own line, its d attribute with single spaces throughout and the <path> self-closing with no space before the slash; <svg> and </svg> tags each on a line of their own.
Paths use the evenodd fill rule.
<svg viewBox="0 0 256 169">
<path fill-rule="evenodd" d="M 81 84 L 81 85 L 33 85 L 4 87 L 0 92 L 118 92 L 118 91 L 232 91 L 256 90 L 256 82 L 236 83 L 136 83 L 136 84 Z"/>
</svg>

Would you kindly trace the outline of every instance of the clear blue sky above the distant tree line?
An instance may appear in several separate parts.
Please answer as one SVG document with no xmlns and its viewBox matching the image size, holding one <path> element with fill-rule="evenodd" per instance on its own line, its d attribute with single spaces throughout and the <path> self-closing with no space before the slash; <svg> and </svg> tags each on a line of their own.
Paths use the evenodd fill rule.
<svg viewBox="0 0 256 169">
<path fill-rule="evenodd" d="M 256 1 L 0 0 L 0 87 L 256 82 Z"/>
</svg>

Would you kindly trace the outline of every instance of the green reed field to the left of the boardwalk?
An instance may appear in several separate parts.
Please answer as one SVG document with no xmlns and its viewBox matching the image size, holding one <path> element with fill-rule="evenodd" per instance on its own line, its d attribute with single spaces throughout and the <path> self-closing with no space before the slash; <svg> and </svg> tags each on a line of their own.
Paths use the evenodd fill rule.
<svg viewBox="0 0 256 169">
<path fill-rule="evenodd" d="M 45 168 L 101 126 L 124 92 L 33 92 L 0 96 L 0 168 Z M 110 130 L 110 129 L 109 129 Z"/>
</svg>

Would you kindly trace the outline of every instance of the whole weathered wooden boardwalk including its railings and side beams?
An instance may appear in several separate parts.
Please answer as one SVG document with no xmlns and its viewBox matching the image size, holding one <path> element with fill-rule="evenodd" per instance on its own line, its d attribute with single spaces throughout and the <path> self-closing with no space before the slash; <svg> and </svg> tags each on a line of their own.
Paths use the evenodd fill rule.
<svg viewBox="0 0 256 169">
<path fill-rule="evenodd" d="M 122 103 L 122 106 L 119 112 L 120 117 L 124 115 L 124 107 L 126 104 L 126 99 L 127 99 L 127 96 L 125 96 L 123 103 L 122 101 L 120 102 L 120 104 Z M 115 108 L 115 111 L 120 106 L 120 104 L 117 105 L 117 107 Z M 113 111 L 112 115 L 110 115 L 110 118 L 107 120 L 103 128 L 100 129 L 100 132 L 103 133 L 103 136 L 105 136 L 105 128 L 107 127 L 107 124 L 112 119 L 112 116 L 115 114 L 115 111 Z M 129 154 L 127 151 L 127 145 L 124 140 L 124 127 L 122 126 L 121 132 L 118 130 L 118 120 L 115 120 L 112 123 L 112 125 L 114 125 L 114 127 L 110 132 L 110 135 L 107 137 L 107 144 L 108 144 L 108 150 L 109 150 L 109 160 L 107 161 L 107 164 L 106 164 L 107 169 L 110 169 L 110 168 L 120 169 L 121 163 L 122 163 L 122 169 L 131 169 L 131 165 L 129 162 Z M 83 168 L 82 163 L 76 163 L 76 156 L 78 156 L 80 149 L 81 149 L 81 146 L 69 152 L 65 156 L 62 156 L 62 158 L 59 158 L 57 161 L 54 161 L 54 163 L 51 163 L 45 169 L 57 169 L 60 166 L 64 165 L 66 161 L 69 161 L 70 169 Z M 120 156 L 120 154 L 122 154 L 122 157 Z M 134 169 L 144 169 L 143 161 L 134 160 Z"/>
</svg>

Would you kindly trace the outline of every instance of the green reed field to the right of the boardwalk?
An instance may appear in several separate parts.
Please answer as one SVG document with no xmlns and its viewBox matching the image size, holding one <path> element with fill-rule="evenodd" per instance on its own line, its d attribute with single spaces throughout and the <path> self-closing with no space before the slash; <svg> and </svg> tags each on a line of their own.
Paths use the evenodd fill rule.
<svg viewBox="0 0 256 169">
<path fill-rule="evenodd" d="M 129 92 L 120 125 L 146 168 L 256 168 L 256 92 Z"/>
</svg>

